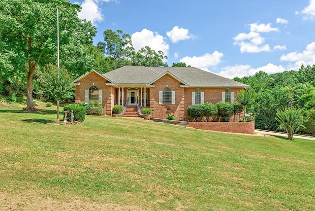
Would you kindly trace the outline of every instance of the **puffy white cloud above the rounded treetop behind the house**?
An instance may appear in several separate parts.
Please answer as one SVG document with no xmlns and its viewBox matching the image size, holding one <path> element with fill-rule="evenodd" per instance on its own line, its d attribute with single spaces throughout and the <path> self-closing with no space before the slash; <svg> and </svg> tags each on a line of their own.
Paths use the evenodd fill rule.
<svg viewBox="0 0 315 211">
<path fill-rule="evenodd" d="M 165 56 L 168 55 L 169 45 L 165 42 L 165 38 L 157 32 L 143 29 L 141 32 L 135 32 L 131 35 L 131 40 L 135 51 L 140 50 L 144 46 L 149 46 L 155 51 L 162 51 Z"/>
</svg>

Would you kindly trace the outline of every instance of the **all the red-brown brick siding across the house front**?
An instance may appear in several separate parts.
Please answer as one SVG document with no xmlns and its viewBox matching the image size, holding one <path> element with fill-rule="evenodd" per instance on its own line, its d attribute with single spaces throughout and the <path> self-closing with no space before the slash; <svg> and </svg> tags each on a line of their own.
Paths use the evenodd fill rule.
<svg viewBox="0 0 315 211">
<path fill-rule="evenodd" d="M 102 106 L 103 114 L 111 115 L 114 104 L 118 103 L 118 88 L 107 86 L 106 80 L 92 71 L 90 74 L 86 75 L 80 80 L 80 85 L 76 85 L 75 92 L 75 102 L 84 102 L 84 90 L 88 90 L 91 86 L 95 85 L 98 89 L 103 90 Z M 169 87 L 172 91 L 175 91 L 175 104 L 159 104 L 159 92 L 165 87 Z M 124 102 L 127 100 L 127 89 L 129 87 L 124 87 Z M 134 87 L 139 90 L 139 106 L 141 101 L 141 89 L 140 87 Z M 228 87 L 227 87 L 228 88 Z M 188 106 L 191 105 L 191 93 L 195 92 L 196 88 L 184 88 L 180 87 L 180 82 L 173 78 L 169 74 L 165 74 L 163 77 L 155 81 L 155 87 L 148 87 L 148 104 L 152 109 L 152 117 L 165 119 L 167 115 L 174 115 L 175 120 L 189 120 L 188 118 Z M 222 92 L 226 88 L 202 88 L 201 92 L 204 92 L 204 102 L 209 102 L 216 104 L 222 101 Z M 238 91 L 243 90 L 243 88 L 230 88 L 231 92 L 235 93 L 235 97 Z M 121 91 L 123 88 L 121 88 Z M 144 89 L 143 89 L 144 91 Z M 144 105 L 143 105 L 144 106 Z M 238 115 L 235 121 L 238 121 L 243 115 Z M 233 116 L 230 121 L 233 121 Z"/>
</svg>

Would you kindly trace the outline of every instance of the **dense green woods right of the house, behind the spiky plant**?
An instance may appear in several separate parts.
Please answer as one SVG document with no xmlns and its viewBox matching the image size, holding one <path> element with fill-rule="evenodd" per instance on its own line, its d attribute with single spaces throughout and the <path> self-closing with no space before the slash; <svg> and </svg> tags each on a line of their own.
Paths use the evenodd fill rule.
<svg viewBox="0 0 315 211">
<path fill-rule="evenodd" d="M 255 102 L 247 108 L 255 116 L 255 128 L 279 131 L 277 108 L 297 107 L 309 118 L 300 133 L 315 135 L 315 65 L 270 75 L 259 71 L 234 80 L 250 85 L 256 92 Z"/>
</svg>

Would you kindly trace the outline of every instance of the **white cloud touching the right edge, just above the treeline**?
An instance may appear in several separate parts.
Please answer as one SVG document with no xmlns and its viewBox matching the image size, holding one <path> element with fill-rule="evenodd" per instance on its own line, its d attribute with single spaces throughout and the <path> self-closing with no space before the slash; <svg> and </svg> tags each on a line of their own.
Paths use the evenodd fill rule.
<svg viewBox="0 0 315 211">
<path fill-rule="evenodd" d="M 291 52 L 284 54 L 280 57 L 280 61 L 295 62 L 294 65 L 290 65 L 290 70 L 298 69 L 301 64 L 313 65 L 315 64 L 315 42 L 308 44 L 302 53 Z"/>
</svg>

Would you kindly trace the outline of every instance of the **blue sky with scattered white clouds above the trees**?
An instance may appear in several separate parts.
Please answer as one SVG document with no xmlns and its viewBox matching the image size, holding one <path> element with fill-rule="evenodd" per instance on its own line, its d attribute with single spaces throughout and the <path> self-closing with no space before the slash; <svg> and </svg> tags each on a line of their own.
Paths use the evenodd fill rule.
<svg viewBox="0 0 315 211">
<path fill-rule="evenodd" d="M 70 0 L 97 28 L 233 78 L 315 64 L 315 0 Z"/>
</svg>

